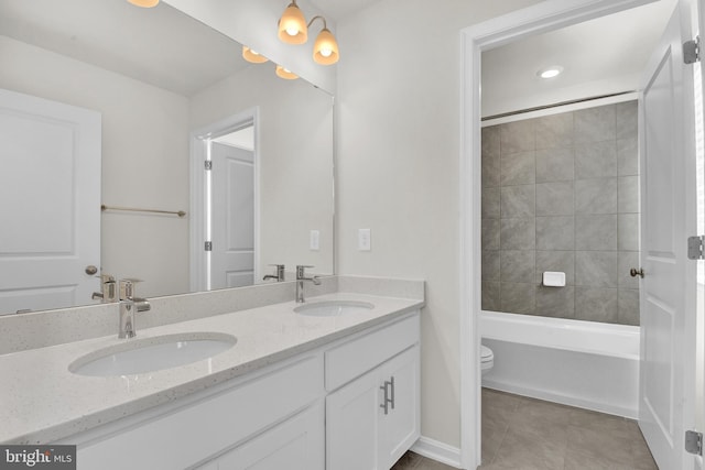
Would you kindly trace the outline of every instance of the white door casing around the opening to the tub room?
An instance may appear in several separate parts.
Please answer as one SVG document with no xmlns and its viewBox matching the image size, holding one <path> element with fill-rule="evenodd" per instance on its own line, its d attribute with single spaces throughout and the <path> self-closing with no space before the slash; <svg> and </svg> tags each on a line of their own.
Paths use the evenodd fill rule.
<svg viewBox="0 0 705 470">
<path fill-rule="evenodd" d="M 482 51 L 655 0 L 547 0 L 460 31 L 460 467 L 480 464 L 480 58 Z"/>
</svg>

